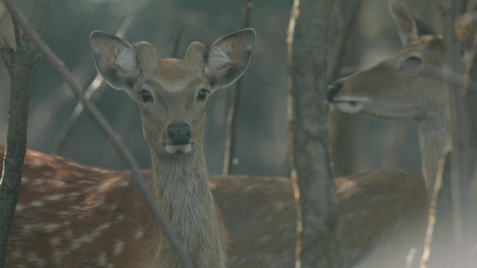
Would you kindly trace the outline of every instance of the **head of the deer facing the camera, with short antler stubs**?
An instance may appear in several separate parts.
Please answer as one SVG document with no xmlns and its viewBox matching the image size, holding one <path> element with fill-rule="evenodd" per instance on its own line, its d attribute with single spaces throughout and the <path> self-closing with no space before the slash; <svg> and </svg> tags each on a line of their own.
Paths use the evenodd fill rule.
<svg viewBox="0 0 477 268">
<path fill-rule="evenodd" d="M 255 31 L 243 29 L 204 45 L 192 42 L 185 58 L 160 58 L 148 42 L 91 33 L 96 68 L 107 84 L 125 90 L 139 104 L 152 150 L 187 154 L 202 146 L 209 95 L 239 79 L 248 67 Z"/>
</svg>

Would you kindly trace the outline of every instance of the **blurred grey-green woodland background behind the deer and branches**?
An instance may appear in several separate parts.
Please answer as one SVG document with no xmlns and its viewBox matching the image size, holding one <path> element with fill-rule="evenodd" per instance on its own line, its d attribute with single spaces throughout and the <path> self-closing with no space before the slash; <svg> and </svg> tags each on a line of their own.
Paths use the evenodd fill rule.
<svg viewBox="0 0 477 268">
<path fill-rule="evenodd" d="M 332 1 L 329 58 L 351 0 Z M 27 13 L 31 1 L 19 0 Z M 193 0 L 56 0 L 52 1 L 42 34 L 48 45 L 73 70 L 77 82 L 86 88 L 96 77 L 89 34 L 100 30 L 116 33 L 123 20 L 135 14 L 125 38 L 146 40 L 158 56 L 169 57 L 177 29 L 183 32 L 179 57 L 190 42 L 206 47 L 228 33 L 241 29 L 245 1 Z M 404 6 L 437 32 L 440 13 L 432 1 L 402 1 Z M 241 175 L 289 176 L 287 156 L 287 50 L 286 31 L 292 1 L 256 0 L 252 28 L 257 31 L 252 61 L 245 72 L 239 110 L 239 137 L 235 168 Z M 342 76 L 370 67 L 400 47 L 398 34 L 387 10 L 387 1 L 363 0 L 348 44 Z M 3 13 L 0 24 L 13 44 L 10 17 Z M 10 82 L 6 68 L 0 68 L 0 142 L 6 141 Z M 150 166 L 149 147 L 142 136 L 137 105 L 126 93 L 103 85 L 105 93 L 96 102 L 117 132 L 129 145 L 142 168 Z M 222 173 L 225 122 L 233 86 L 218 90 L 207 104 L 204 148 L 209 171 Z M 319 90 L 324 90 L 320 88 Z M 59 132 L 77 101 L 69 88 L 45 61 L 33 77 L 29 117 L 29 149 L 51 152 Z M 334 132 L 333 132 L 334 133 Z M 411 120 L 389 121 L 370 116 L 340 116 L 333 136 L 336 175 L 379 169 L 421 170 L 416 124 Z M 123 169 L 105 136 L 89 116 L 82 116 L 74 134 L 60 154 L 84 164 Z"/>
</svg>

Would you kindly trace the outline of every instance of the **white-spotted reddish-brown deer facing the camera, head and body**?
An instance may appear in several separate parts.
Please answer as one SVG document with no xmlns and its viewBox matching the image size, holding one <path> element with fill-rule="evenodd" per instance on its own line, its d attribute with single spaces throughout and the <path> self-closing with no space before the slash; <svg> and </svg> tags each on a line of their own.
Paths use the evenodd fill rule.
<svg viewBox="0 0 477 268">
<path fill-rule="evenodd" d="M 192 265 L 226 267 L 202 148 L 206 100 L 245 72 L 255 31 L 224 36 L 206 53 L 192 42 L 183 59 L 158 59 L 148 42 L 100 31 L 90 41 L 103 79 L 139 104 L 150 186 Z M 181 267 L 129 173 L 37 152 L 25 165 L 6 267 Z"/>
</svg>

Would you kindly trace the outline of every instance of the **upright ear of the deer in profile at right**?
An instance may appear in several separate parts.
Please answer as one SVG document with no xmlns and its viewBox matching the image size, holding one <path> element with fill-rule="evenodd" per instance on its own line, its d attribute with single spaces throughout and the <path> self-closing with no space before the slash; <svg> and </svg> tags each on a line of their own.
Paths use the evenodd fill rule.
<svg viewBox="0 0 477 268">
<path fill-rule="evenodd" d="M 419 36 L 436 34 L 430 26 L 416 19 L 406 8 L 395 0 L 389 0 L 389 11 L 391 12 L 391 17 L 393 17 L 396 28 L 398 28 L 399 37 L 404 47 L 412 40 L 416 40 Z"/>
</svg>

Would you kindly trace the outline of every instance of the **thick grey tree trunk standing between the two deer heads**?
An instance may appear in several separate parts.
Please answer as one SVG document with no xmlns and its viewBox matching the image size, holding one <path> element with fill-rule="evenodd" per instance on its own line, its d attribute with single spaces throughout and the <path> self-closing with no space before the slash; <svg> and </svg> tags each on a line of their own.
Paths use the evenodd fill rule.
<svg viewBox="0 0 477 268">
<path fill-rule="evenodd" d="M 288 31 L 289 150 L 299 190 L 301 267 L 340 267 L 338 198 L 329 165 L 326 54 L 329 1 L 295 0 Z"/>
</svg>

